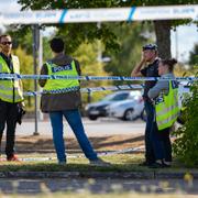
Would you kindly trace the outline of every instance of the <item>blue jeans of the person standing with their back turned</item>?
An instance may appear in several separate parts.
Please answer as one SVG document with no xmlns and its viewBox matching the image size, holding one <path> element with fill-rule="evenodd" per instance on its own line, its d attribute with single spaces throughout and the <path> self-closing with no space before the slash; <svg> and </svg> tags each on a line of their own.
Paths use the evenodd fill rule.
<svg viewBox="0 0 198 198">
<path fill-rule="evenodd" d="M 53 128 L 53 141 L 54 141 L 58 161 L 59 162 L 66 161 L 65 143 L 64 143 L 64 138 L 63 138 L 63 116 L 67 120 L 73 132 L 75 133 L 77 141 L 81 150 L 84 151 L 86 157 L 90 161 L 97 160 L 98 158 L 97 154 L 94 151 L 85 133 L 84 125 L 81 122 L 81 116 L 78 109 L 74 109 L 74 110 L 50 112 L 51 124 Z"/>
</svg>

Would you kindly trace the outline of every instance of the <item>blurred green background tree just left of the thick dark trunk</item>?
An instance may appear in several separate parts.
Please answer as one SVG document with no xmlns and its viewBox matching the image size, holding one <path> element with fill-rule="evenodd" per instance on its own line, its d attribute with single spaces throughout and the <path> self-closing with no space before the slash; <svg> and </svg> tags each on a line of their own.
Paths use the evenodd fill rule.
<svg viewBox="0 0 198 198">
<path fill-rule="evenodd" d="M 120 44 L 120 51 L 118 53 L 111 53 L 111 62 L 106 65 L 106 70 L 111 73 L 113 76 L 129 76 L 132 68 L 140 62 L 142 46 L 147 42 L 153 42 L 146 37 L 147 30 L 150 34 L 153 34 L 153 26 L 151 24 L 144 23 L 122 23 L 111 25 L 110 29 L 114 32 Z M 123 81 L 116 81 L 120 85 Z M 127 84 L 124 81 L 124 84 Z M 129 81 L 131 84 L 131 81 Z"/>
</svg>

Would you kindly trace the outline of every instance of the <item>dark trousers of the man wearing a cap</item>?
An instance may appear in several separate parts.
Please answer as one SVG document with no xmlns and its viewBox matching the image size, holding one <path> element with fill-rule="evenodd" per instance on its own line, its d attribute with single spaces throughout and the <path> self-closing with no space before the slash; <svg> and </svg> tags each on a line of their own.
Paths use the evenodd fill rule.
<svg viewBox="0 0 198 198">
<path fill-rule="evenodd" d="M 152 164 L 155 162 L 155 156 L 154 156 L 154 151 L 153 151 L 153 135 L 152 135 L 152 129 L 154 124 L 154 112 L 155 109 L 153 105 L 145 100 L 144 101 L 145 106 L 145 112 L 146 112 L 146 128 L 145 128 L 145 161 L 148 164 Z"/>
</svg>

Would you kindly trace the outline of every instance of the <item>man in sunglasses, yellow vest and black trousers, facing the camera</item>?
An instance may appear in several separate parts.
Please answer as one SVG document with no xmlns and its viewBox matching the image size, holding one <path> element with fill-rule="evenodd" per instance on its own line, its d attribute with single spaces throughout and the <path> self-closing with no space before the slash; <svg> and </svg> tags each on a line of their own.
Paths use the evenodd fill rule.
<svg viewBox="0 0 198 198">
<path fill-rule="evenodd" d="M 10 35 L 0 36 L 0 74 L 20 74 L 19 58 L 11 54 L 12 38 Z M 0 79 L 0 145 L 7 124 L 6 154 L 8 161 L 19 161 L 14 154 L 14 142 L 22 101 L 22 81 L 20 79 Z"/>
</svg>

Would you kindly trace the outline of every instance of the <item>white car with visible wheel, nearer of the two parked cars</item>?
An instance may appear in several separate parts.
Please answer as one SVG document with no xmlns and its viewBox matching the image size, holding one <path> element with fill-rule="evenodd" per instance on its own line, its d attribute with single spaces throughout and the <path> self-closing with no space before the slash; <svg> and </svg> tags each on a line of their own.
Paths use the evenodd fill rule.
<svg viewBox="0 0 198 198">
<path fill-rule="evenodd" d="M 144 120 L 144 101 L 141 91 L 132 96 L 130 99 L 112 103 L 106 108 L 108 116 L 122 120 L 135 120 L 142 118 Z"/>
</svg>

